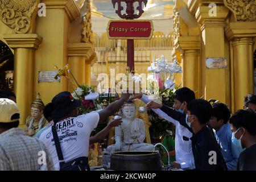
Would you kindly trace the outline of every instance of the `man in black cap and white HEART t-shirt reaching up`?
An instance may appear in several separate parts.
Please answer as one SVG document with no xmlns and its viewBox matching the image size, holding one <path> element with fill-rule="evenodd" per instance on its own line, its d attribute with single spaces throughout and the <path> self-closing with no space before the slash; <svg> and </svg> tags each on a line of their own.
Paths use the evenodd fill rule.
<svg viewBox="0 0 256 182">
<path fill-rule="evenodd" d="M 57 136 L 64 160 L 59 160 L 53 139 L 51 127 L 44 131 L 40 140 L 44 142 L 52 154 L 53 164 L 57 170 L 61 169 L 63 163 L 72 162 L 77 158 L 87 158 L 89 151 L 90 133 L 97 127 L 99 122 L 105 121 L 113 115 L 127 101 L 130 94 L 123 93 L 121 98 L 104 110 L 98 113 L 89 113 L 77 116 L 77 107 L 81 105 L 79 100 L 75 100 L 71 93 L 61 92 L 52 99 L 54 110 L 52 119 L 55 122 Z M 59 155 L 60 156 L 60 155 Z"/>
</svg>

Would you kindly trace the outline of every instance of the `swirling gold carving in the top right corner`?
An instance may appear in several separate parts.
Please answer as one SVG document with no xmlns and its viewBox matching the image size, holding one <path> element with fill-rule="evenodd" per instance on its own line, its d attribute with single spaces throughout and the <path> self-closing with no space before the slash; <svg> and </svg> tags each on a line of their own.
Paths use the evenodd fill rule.
<svg viewBox="0 0 256 182">
<path fill-rule="evenodd" d="M 224 0 L 237 21 L 252 22 L 256 20 L 256 0 Z"/>
</svg>

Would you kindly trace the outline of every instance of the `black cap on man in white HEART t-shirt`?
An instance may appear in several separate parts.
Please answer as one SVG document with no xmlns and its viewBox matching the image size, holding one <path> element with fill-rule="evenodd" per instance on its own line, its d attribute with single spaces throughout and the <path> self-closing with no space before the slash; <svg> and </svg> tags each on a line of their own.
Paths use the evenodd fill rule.
<svg viewBox="0 0 256 182">
<path fill-rule="evenodd" d="M 61 92 L 52 99 L 53 112 L 52 119 L 57 120 L 70 113 L 76 107 L 81 106 L 80 100 L 73 98 L 70 92 Z"/>
</svg>

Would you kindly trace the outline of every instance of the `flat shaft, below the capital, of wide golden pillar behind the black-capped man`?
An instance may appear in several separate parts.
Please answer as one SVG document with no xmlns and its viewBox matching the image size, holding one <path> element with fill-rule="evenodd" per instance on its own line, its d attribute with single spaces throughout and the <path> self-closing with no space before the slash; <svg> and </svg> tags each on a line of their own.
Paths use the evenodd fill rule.
<svg viewBox="0 0 256 182">
<path fill-rule="evenodd" d="M 56 71 L 55 65 L 63 67 L 67 64 L 69 19 L 64 9 L 47 9 L 47 16 L 37 18 L 37 24 L 36 32 L 43 37 L 43 42 L 35 53 L 34 94 L 40 92 L 47 104 L 57 93 L 68 89 L 67 80 L 61 78 L 60 82 L 38 83 L 38 72 Z"/>
</svg>

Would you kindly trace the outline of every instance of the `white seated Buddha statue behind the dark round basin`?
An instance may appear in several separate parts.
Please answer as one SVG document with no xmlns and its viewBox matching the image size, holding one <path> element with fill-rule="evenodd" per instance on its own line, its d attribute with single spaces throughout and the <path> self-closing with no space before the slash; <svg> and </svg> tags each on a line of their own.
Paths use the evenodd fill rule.
<svg viewBox="0 0 256 182">
<path fill-rule="evenodd" d="M 144 121 L 135 118 L 136 107 L 133 101 L 127 101 L 122 108 L 122 124 L 115 127 L 115 144 L 107 151 L 152 151 L 154 145 L 143 143 L 146 137 Z"/>
</svg>

